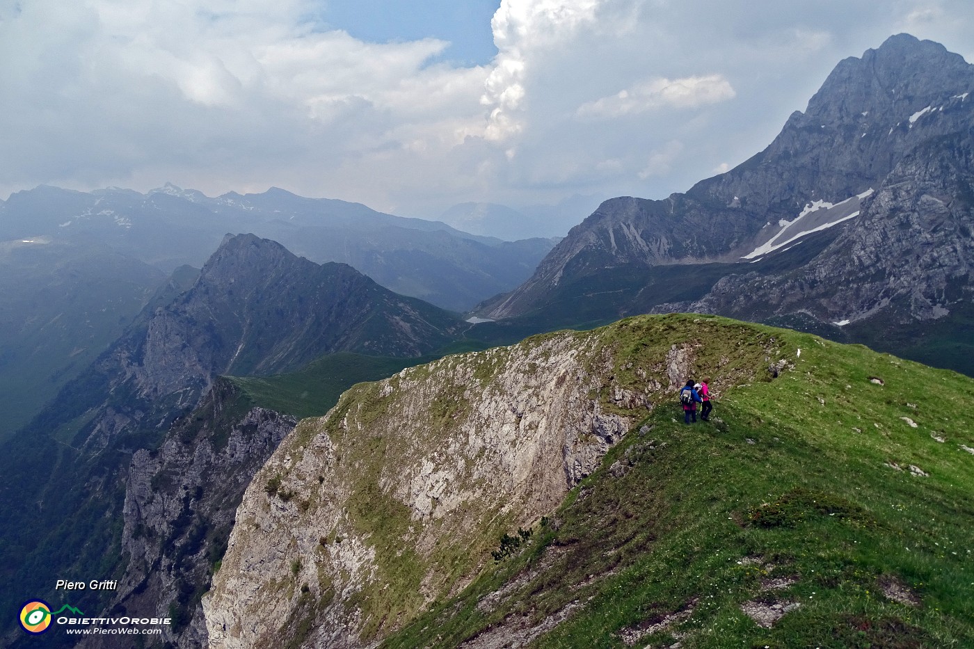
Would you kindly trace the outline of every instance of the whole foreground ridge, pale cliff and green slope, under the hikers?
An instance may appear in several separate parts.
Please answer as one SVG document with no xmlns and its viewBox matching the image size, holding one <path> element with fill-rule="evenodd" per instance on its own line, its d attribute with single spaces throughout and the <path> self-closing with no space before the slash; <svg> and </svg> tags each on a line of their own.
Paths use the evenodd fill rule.
<svg viewBox="0 0 974 649">
<path fill-rule="evenodd" d="M 682 314 L 360 383 L 247 487 L 209 646 L 968 646 L 972 400 Z"/>
</svg>

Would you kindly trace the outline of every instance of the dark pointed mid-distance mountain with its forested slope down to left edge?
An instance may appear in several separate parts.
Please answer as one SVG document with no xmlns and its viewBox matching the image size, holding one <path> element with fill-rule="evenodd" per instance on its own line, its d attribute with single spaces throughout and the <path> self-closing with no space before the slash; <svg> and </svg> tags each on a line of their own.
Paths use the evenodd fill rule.
<svg viewBox="0 0 974 649">
<path fill-rule="evenodd" d="M 83 567 L 117 574 L 132 454 L 178 435 L 170 434 L 173 423 L 206 398 L 218 374 L 282 371 L 337 351 L 420 356 L 469 326 L 348 265 L 318 265 L 254 235 L 227 236 L 202 271 L 182 269 L 108 351 L 3 444 L 0 527 L 9 534 L 0 574 L 38 593 L 49 592 L 57 574 Z M 231 454 L 226 462 L 238 460 Z M 76 605 L 99 605 L 98 593 L 87 596 Z"/>
</svg>

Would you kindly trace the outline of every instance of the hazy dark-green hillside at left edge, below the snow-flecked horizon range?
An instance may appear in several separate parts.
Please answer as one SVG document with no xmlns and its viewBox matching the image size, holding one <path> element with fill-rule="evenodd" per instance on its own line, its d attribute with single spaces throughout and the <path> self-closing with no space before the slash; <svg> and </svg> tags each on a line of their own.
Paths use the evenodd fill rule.
<svg viewBox="0 0 974 649">
<path fill-rule="evenodd" d="M 103 246 L 0 243 L 0 440 L 92 363 L 163 279 Z"/>
</svg>

